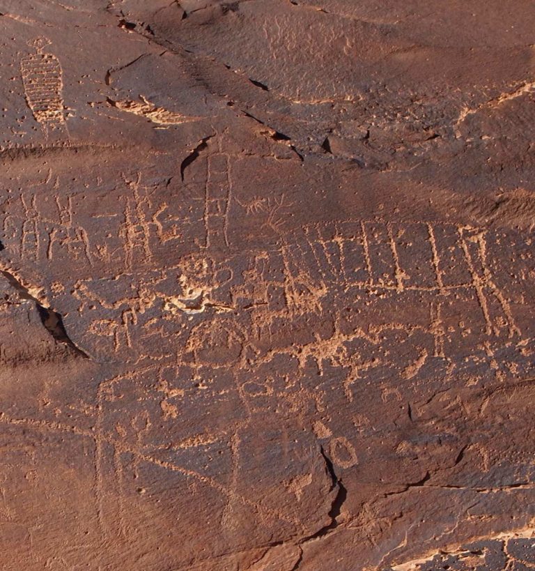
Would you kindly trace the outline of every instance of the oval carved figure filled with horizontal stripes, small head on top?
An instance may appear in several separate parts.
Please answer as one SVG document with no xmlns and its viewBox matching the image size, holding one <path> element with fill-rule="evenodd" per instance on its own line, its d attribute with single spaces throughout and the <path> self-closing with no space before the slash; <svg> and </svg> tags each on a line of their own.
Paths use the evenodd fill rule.
<svg viewBox="0 0 535 571">
<path fill-rule="evenodd" d="M 61 64 L 54 54 L 44 53 L 50 42 L 45 38 L 33 40 L 36 53 L 20 61 L 26 102 L 45 135 L 52 130 L 65 129 L 63 106 L 63 77 Z"/>
</svg>

